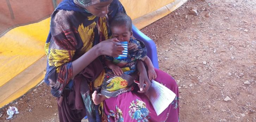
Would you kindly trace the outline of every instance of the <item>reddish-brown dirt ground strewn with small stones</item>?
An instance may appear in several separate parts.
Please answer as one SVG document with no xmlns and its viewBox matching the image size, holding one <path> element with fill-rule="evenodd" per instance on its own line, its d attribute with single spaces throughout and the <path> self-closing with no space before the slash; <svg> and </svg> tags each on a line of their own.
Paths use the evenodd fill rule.
<svg viewBox="0 0 256 122">
<path fill-rule="evenodd" d="M 255 19 L 255 0 L 190 0 L 142 29 L 157 44 L 160 69 L 179 84 L 181 122 L 256 121 Z M 49 91 L 42 84 L 10 103 L 20 113 L 9 121 L 58 122 Z"/>
</svg>

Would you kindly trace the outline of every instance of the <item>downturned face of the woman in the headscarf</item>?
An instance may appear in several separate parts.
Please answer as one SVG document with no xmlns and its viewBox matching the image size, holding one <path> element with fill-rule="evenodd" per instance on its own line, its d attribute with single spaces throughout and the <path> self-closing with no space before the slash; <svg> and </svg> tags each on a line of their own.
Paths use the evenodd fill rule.
<svg viewBox="0 0 256 122">
<path fill-rule="evenodd" d="M 95 16 L 104 17 L 108 13 L 108 6 L 112 1 L 113 0 L 99 2 L 93 5 L 87 6 L 85 7 L 85 9 Z"/>
</svg>

